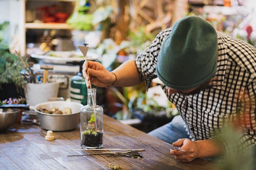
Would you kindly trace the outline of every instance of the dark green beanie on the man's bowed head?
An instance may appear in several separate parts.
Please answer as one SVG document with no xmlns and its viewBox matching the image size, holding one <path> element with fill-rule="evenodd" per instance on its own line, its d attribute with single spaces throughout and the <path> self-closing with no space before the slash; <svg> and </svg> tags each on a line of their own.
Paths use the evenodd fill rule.
<svg viewBox="0 0 256 170">
<path fill-rule="evenodd" d="M 168 87 L 187 90 L 214 77 L 217 33 L 204 19 L 186 16 L 174 23 L 158 55 L 157 76 Z"/>
</svg>

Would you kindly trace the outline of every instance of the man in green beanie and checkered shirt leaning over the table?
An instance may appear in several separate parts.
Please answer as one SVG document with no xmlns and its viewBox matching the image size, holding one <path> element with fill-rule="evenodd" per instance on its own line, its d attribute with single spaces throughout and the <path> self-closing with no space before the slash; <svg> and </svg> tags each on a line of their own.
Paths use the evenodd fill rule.
<svg viewBox="0 0 256 170">
<path fill-rule="evenodd" d="M 83 76 L 88 87 L 90 80 L 99 87 L 145 81 L 147 88 L 158 77 L 180 115 L 149 134 L 183 149 L 170 154 L 187 162 L 233 149 L 215 141 L 227 122 L 241 127 L 242 148 L 255 146 L 255 59 L 252 45 L 217 33 L 200 17 L 187 16 L 160 32 L 135 60 L 112 72 L 88 61 Z"/>
</svg>

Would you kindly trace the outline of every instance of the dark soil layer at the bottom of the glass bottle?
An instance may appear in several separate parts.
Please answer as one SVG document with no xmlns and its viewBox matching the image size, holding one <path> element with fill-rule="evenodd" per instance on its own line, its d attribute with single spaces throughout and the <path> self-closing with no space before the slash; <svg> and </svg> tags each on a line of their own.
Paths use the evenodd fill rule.
<svg viewBox="0 0 256 170">
<path fill-rule="evenodd" d="M 97 134 L 83 134 L 81 140 L 82 148 L 102 148 L 103 147 L 103 133 Z"/>
</svg>

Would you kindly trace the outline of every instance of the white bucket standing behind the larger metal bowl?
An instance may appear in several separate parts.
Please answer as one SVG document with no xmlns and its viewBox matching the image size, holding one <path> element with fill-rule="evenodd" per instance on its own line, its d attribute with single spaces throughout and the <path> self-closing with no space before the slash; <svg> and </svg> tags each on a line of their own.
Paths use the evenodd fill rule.
<svg viewBox="0 0 256 170">
<path fill-rule="evenodd" d="M 48 102 L 49 98 L 58 96 L 59 82 L 52 83 L 28 83 L 25 88 L 27 104 L 35 106 L 38 103 Z"/>
</svg>

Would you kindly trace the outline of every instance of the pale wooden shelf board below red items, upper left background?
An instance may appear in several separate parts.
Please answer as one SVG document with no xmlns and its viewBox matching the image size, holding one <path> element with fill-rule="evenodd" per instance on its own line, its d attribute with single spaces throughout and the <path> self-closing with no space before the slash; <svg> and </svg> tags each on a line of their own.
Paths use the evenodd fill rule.
<svg viewBox="0 0 256 170">
<path fill-rule="evenodd" d="M 72 29 L 67 23 L 25 23 L 26 29 Z"/>
</svg>

